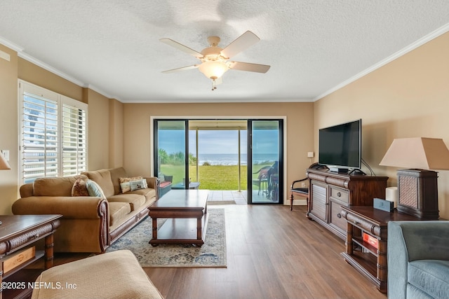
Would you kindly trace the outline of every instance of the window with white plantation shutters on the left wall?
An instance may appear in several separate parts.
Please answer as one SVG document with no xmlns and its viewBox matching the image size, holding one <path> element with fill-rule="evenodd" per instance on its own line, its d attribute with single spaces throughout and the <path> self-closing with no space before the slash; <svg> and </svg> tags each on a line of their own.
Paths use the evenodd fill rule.
<svg viewBox="0 0 449 299">
<path fill-rule="evenodd" d="M 85 171 L 87 104 L 25 81 L 19 95 L 21 183 Z"/>
</svg>

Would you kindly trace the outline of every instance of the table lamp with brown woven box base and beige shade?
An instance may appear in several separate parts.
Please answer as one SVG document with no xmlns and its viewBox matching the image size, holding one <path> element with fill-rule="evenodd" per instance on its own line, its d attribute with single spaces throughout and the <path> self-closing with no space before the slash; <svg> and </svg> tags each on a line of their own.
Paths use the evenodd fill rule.
<svg viewBox="0 0 449 299">
<path fill-rule="evenodd" d="M 438 174 L 449 170 L 449 150 L 443 139 L 394 139 L 379 165 L 398 170 L 398 211 L 427 220 L 438 219 Z"/>
</svg>

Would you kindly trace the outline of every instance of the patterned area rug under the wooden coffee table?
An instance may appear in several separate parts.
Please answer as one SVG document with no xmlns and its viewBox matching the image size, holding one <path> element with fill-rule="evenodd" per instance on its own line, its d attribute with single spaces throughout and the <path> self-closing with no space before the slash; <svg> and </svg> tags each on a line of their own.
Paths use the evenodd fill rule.
<svg viewBox="0 0 449 299">
<path fill-rule="evenodd" d="M 208 214 L 206 238 L 201 247 L 148 244 L 152 237 L 152 219 L 147 217 L 106 251 L 129 249 L 142 267 L 226 267 L 225 209 L 208 209 Z M 166 219 L 158 219 L 159 228 L 163 221 Z"/>
</svg>

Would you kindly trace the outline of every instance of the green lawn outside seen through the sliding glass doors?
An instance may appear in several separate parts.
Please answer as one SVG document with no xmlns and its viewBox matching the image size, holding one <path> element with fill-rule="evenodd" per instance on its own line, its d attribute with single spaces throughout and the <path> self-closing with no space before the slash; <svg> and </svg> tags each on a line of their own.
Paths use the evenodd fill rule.
<svg viewBox="0 0 449 299">
<path fill-rule="evenodd" d="M 255 165 L 254 172 L 266 165 Z M 241 165 L 241 190 L 247 190 L 247 167 Z M 166 175 L 173 175 L 173 183 L 180 183 L 184 177 L 184 166 L 182 165 L 161 165 L 161 172 Z M 239 167 L 237 165 L 210 165 L 199 166 L 199 179 L 196 179 L 196 166 L 189 167 L 189 174 L 192 181 L 199 181 L 200 189 L 208 190 L 239 190 Z M 253 179 L 257 179 L 258 174 L 253 174 Z"/>
</svg>

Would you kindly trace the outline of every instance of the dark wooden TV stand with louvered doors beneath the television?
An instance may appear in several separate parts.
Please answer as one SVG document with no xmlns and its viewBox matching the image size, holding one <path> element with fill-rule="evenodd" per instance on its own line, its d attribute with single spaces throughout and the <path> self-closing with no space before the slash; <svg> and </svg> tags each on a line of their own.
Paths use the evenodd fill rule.
<svg viewBox="0 0 449 299">
<path fill-rule="evenodd" d="M 329 169 L 307 169 L 309 204 L 307 217 L 342 239 L 347 236 L 347 223 L 341 207 L 373 207 L 375 197 L 385 198 L 388 176 L 341 174 Z"/>
</svg>

